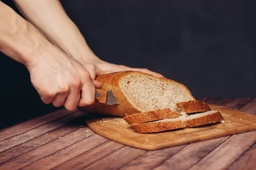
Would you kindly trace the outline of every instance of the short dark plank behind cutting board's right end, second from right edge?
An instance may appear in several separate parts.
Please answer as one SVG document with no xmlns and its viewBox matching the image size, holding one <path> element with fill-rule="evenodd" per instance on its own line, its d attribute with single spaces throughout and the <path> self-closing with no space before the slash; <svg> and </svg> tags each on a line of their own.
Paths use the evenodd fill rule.
<svg viewBox="0 0 256 170">
<path fill-rule="evenodd" d="M 240 108 L 242 108 L 244 105 L 246 105 L 247 103 L 249 103 L 252 100 L 253 100 L 253 98 L 230 99 L 221 106 L 239 110 Z"/>
</svg>

